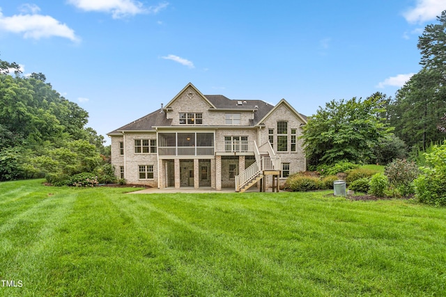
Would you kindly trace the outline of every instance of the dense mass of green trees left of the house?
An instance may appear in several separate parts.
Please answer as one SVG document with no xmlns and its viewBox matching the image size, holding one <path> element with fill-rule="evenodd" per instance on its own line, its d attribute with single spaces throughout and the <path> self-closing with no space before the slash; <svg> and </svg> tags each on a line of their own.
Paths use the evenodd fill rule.
<svg viewBox="0 0 446 297">
<path fill-rule="evenodd" d="M 0 60 L 0 181 L 47 177 L 56 182 L 103 171 L 109 147 L 86 127 L 88 118 L 44 74 L 24 76 L 17 63 Z"/>
</svg>

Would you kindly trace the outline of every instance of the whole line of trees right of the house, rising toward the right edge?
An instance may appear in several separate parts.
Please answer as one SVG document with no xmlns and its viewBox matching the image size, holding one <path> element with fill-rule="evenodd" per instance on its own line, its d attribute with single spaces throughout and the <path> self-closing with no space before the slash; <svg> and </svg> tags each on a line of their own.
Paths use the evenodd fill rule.
<svg viewBox="0 0 446 297">
<path fill-rule="evenodd" d="M 445 140 L 446 10 L 419 37 L 422 69 L 394 98 L 332 100 L 319 107 L 301 139 L 309 168 L 353 163 L 386 164 L 415 158 Z"/>
</svg>

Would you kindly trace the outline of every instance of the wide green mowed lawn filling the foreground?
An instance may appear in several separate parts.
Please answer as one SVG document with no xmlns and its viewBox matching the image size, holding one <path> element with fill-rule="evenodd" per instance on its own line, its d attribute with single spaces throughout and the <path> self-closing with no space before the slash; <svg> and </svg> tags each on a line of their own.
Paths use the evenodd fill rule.
<svg viewBox="0 0 446 297">
<path fill-rule="evenodd" d="M 446 296 L 446 209 L 0 183 L 0 296 Z"/>
</svg>

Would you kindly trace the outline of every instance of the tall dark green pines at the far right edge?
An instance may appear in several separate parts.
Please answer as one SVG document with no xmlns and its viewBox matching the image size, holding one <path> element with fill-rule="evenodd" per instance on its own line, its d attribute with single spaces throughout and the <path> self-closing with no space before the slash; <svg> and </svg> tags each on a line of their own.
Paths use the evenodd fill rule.
<svg viewBox="0 0 446 297">
<path fill-rule="evenodd" d="M 443 141 L 438 131 L 446 113 L 446 10 L 429 24 L 418 40 L 422 70 L 397 92 L 390 109 L 390 123 L 409 147 L 426 150 L 429 143 Z"/>
</svg>

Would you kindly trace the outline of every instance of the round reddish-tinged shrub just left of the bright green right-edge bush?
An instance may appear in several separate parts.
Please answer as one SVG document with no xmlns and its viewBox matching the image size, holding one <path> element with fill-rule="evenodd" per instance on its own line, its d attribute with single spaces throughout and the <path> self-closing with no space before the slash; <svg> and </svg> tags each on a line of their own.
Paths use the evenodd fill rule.
<svg viewBox="0 0 446 297">
<path fill-rule="evenodd" d="M 413 180 L 418 177 L 420 170 L 415 162 L 396 159 L 385 168 L 385 175 L 389 183 L 398 188 L 401 195 L 407 196 L 415 193 Z"/>
</svg>

